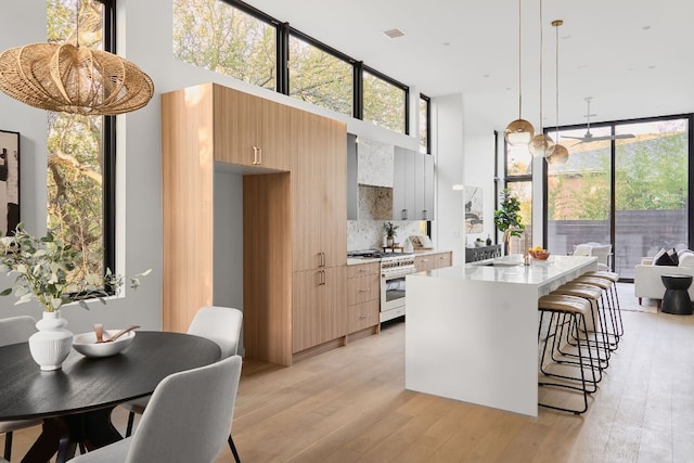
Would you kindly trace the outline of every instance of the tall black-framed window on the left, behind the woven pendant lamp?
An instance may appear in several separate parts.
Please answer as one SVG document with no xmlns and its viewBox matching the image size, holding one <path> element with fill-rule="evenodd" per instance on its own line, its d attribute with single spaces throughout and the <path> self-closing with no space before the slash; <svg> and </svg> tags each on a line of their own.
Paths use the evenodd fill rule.
<svg viewBox="0 0 694 463">
<path fill-rule="evenodd" d="M 112 50 L 113 0 L 49 0 L 48 40 Z M 48 228 L 81 249 L 77 278 L 115 271 L 113 117 L 48 113 Z"/>
</svg>

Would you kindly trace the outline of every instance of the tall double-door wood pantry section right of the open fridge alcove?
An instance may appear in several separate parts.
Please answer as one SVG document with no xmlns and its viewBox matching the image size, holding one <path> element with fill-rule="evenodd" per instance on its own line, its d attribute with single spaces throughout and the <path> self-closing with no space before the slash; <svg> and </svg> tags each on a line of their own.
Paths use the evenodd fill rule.
<svg viewBox="0 0 694 463">
<path fill-rule="evenodd" d="M 347 147 L 342 123 L 291 118 L 293 352 L 347 334 Z"/>
</svg>

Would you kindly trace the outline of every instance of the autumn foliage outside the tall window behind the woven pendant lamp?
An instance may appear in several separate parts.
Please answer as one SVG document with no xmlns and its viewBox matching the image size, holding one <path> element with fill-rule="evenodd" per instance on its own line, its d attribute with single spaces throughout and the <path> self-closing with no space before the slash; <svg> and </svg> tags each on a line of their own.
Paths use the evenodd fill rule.
<svg viewBox="0 0 694 463">
<path fill-rule="evenodd" d="M 80 0 L 79 44 L 102 49 L 103 5 Z M 75 42 L 75 0 L 48 2 L 48 37 Z M 103 117 L 48 113 L 48 229 L 73 249 L 70 279 L 101 279 L 103 268 Z"/>
</svg>

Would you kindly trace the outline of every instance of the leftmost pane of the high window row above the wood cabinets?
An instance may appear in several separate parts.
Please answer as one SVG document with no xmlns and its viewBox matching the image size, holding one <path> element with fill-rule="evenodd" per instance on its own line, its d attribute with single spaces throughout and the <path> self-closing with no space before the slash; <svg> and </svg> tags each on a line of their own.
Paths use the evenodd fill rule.
<svg viewBox="0 0 694 463">
<path fill-rule="evenodd" d="M 174 56 L 275 89 L 277 29 L 220 0 L 174 0 Z"/>
</svg>

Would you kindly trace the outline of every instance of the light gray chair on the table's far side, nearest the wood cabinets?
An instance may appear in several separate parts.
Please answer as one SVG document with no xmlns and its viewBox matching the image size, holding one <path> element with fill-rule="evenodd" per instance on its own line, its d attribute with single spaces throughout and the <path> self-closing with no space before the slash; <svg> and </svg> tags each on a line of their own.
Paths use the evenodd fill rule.
<svg viewBox="0 0 694 463">
<path fill-rule="evenodd" d="M 217 343 L 221 349 L 221 357 L 223 359 L 229 356 L 236 355 L 239 349 L 239 339 L 241 338 L 242 322 L 243 312 L 239 309 L 206 306 L 195 313 L 193 321 L 188 327 L 188 334 L 206 337 L 207 339 Z M 123 404 L 123 407 L 129 411 L 126 437 L 132 434 L 136 413 L 142 414 L 147 406 L 147 401 L 149 397 L 144 397 Z M 227 440 L 229 442 L 229 448 L 234 455 L 234 460 L 236 463 L 241 463 L 231 433 Z"/>
</svg>

